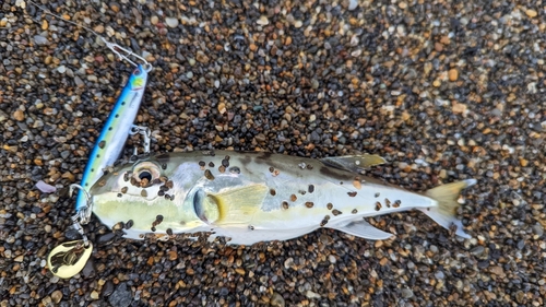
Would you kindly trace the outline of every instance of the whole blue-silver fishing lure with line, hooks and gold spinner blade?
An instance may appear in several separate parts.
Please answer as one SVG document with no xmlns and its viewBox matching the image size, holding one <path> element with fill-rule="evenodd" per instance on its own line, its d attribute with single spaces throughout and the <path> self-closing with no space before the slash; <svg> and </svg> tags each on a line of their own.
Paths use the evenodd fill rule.
<svg viewBox="0 0 546 307">
<path fill-rule="evenodd" d="M 38 7 L 47 14 L 54 15 L 76 26 L 82 26 L 48 12 L 46 9 L 37 5 L 33 1 L 29 2 Z M 73 227 L 82 235 L 82 239 L 61 244 L 50 251 L 47 258 L 48 268 L 54 274 L 60 278 L 70 278 L 80 272 L 93 250 L 93 245 L 87 239 L 81 226 L 82 224 L 88 223 L 93 211 L 93 202 L 88 193 L 91 187 L 100 176 L 103 176 L 105 169 L 118 160 L 129 135 L 136 133 L 142 134 L 144 138 L 144 153 L 150 152 L 150 129 L 134 126 L 133 121 L 142 102 L 149 72 L 152 70 L 152 66 L 144 58 L 133 54 L 132 51 L 117 44 L 107 42 L 93 29 L 85 26 L 82 27 L 98 36 L 105 43 L 106 47 L 116 54 L 119 59 L 128 61 L 135 68 L 129 76 L 127 84 L 123 86 L 123 90 L 92 150 L 90 160 L 83 173 L 81 185 L 74 184 L 70 186 L 70 194 L 72 194 L 74 189 L 79 189 L 75 203 L 76 213 L 72 216 L 72 222 Z M 130 57 L 139 59 L 142 63 L 138 64 L 133 62 Z M 136 154 L 136 149 L 134 150 L 134 154 Z"/>
</svg>

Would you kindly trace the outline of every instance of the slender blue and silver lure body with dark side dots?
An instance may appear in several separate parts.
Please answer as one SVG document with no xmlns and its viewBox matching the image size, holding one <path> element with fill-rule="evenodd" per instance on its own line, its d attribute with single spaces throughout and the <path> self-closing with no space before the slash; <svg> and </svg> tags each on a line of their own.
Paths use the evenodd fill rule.
<svg viewBox="0 0 546 307">
<path fill-rule="evenodd" d="M 85 191 L 88 191 L 93 184 L 103 176 L 103 169 L 111 166 L 121 154 L 123 145 L 129 138 L 129 132 L 132 129 L 134 118 L 139 113 L 146 81 L 147 71 L 143 66 L 139 64 L 123 86 L 91 152 L 81 184 Z M 80 190 L 78 193 L 76 211 L 86 206 L 85 191 Z"/>
</svg>

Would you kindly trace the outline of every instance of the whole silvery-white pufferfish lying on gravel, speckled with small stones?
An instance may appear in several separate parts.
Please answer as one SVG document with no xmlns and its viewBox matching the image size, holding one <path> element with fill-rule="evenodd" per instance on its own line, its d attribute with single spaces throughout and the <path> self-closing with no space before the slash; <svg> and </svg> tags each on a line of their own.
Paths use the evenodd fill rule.
<svg viewBox="0 0 546 307">
<path fill-rule="evenodd" d="M 369 154 L 313 160 L 268 152 L 163 153 L 118 165 L 90 192 L 100 222 L 129 225 L 124 237 L 132 239 L 207 233 L 253 245 L 322 227 L 381 240 L 392 234 L 365 217 L 412 209 L 471 238 L 455 213 L 460 192 L 475 179 L 412 192 L 363 175 L 383 163 Z"/>
</svg>

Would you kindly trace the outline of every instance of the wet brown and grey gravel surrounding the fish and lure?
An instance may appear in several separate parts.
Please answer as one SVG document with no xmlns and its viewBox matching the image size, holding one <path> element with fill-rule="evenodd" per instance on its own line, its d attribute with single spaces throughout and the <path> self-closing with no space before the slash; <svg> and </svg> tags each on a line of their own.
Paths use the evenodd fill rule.
<svg viewBox="0 0 546 307">
<path fill-rule="evenodd" d="M 153 62 L 136 122 L 154 152 L 367 152 L 412 190 L 476 178 L 472 239 L 418 212 L 252 247 L 97 244 L 59 280 L 87 155 L 131 68 L 25 0 L 0 4 L 0 306 L 544 306 L 543 1 L 46 1 Z M 132 151 L 132 141 L 126 154 Z M 60 189 L 44 194 L 44 180 Z"/>
</svg>

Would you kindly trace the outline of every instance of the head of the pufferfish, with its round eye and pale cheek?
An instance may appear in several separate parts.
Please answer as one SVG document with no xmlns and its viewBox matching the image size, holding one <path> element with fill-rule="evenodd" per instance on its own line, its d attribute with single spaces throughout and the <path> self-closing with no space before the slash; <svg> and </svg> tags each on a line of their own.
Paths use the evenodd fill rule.
<svg viewBox="0 0 546 307">
<path fill-rule="evenodd" d="M 131 221 L 140 233 L 199 228 L 204 223 L 193 204 L 187 204 L 195 182 L 188 167 L 167 167 L 161 157 L 118 165 L 91 188 L 93 212 L 109 227 Z"/>
</svg>

